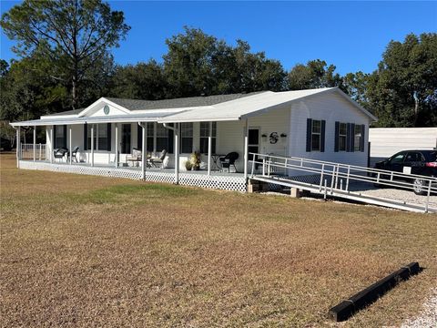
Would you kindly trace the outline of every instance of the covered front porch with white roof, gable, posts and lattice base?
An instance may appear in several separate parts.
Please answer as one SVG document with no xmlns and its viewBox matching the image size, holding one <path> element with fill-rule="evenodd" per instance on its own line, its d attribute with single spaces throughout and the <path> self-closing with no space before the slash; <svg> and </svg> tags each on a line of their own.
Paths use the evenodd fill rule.
<svg viewBox="0 0 437 328">
<path fill-rule="evenodd" d="M 193 185 L 200 187 L 246 190 L 252 171 L 249 152 L 288 153 L 290 110 L 270 112 L 262 104 L 253 108 L 239 99 L 214 107 L 198 106 L 199 101 L 203 104 L 220 99 L 201 97 L 190 99 L 189 104 L 180 99 L 175 100 L 177 104 L 149 104 L 101 98 L 88 108 L 14 122 L 17 165 L 176 184 L 191 185 L 190 181 L 196 180 Z M 193 107 L 178 107 L 191 103 Z M 19 141 L 22 128 L 34 132 L 33 143 L 25 145 L 25 151 Z M 37 128 L 45 130 L 46 143 L 36 143 Z M 193 154 L 197 170 L 191 171 L 188 162 Z M 259 165 L 255 164 L 257 169 Z M 229 183 L 238 186 L 229 188 Z"/>
</svg>

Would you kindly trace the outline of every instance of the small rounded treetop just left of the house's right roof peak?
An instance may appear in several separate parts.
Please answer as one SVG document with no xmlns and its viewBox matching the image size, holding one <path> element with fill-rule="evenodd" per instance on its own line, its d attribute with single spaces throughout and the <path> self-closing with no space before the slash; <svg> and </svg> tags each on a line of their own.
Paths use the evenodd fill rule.
<svg viewBox="0 0 437 328">
<path fill-rule="evenodd" d="M 334 65 L 328 66 L 324 60 L 310 60 L 307 65 L 297 64 L 289 72 L 290 90 L 317 87 L 342 87 L 342 79 L 335 72 Z"/>
</svg>

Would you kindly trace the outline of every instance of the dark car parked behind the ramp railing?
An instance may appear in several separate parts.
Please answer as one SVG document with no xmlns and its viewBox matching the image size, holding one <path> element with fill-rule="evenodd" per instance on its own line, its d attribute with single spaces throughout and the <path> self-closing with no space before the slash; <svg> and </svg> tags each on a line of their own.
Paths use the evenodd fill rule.
<svg viewBox="0 0 437 328">
<path fill-rule="evenodd" d="M 376 163 L 375 169 L 437 178 L 437 150 L 403 150 L 389 159 Z M 407 180 L 412 180 L 413 191 L 416 195 L 426 194 L 428 186 L 423 179 Z"/>
</svg>

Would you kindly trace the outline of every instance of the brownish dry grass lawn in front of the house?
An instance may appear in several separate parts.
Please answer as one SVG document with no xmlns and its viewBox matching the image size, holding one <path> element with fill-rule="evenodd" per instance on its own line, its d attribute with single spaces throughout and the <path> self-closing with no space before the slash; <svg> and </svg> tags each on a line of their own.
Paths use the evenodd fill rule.
<svg viewBox="0 0 437 328">
<path fill-rule="evenodd" d="M 419 261 L 339 324 L 397 325 L 437 282 L 435 215 L 0 160 L 2 326 L 328 326 L 331 306 Z"/>
</svg>

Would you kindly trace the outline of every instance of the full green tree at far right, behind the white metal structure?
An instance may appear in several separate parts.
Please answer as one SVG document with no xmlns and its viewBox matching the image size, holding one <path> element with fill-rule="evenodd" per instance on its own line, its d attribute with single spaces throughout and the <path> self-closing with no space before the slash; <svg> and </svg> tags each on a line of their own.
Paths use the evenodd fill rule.
<svg viewBox="0 0 437 328">
<path fill-rule="evenodd" d="M 436 126 L 437 34 L 391 41 L 367 93 L 379 126 Z"/>
</svg>

